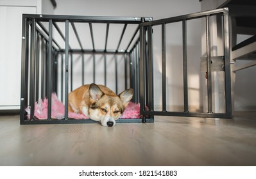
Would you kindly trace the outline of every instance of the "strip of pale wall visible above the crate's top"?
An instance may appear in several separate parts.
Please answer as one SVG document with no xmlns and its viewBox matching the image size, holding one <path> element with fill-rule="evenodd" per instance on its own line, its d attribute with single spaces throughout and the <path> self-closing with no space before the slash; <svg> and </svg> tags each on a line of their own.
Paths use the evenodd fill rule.
<svg viewBox="0 0 256 179">
<path fill-rule="evenodd" d="M 55 14 L 142 16 L 161 19 L 200 11 L 198 0 L 56 0 Z"/>
</svg>

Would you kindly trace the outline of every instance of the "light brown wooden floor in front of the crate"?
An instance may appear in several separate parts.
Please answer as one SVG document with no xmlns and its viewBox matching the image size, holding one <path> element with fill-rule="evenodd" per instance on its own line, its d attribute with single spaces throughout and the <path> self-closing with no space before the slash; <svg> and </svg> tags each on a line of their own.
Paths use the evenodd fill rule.
<svg viewBox="0 0 256 179">
<path fill-rule="evenodd" d="M 0 116 L 0 166 L 256 166 L 256 118 L 19 125 Z"/>
</svg>

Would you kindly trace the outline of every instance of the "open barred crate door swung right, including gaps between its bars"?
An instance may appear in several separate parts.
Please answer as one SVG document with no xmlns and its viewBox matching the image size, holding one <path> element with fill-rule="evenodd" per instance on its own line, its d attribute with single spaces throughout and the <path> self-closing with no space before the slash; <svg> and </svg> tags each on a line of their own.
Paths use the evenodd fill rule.
<svg viewBox="0 0 256 179">
<path fill-rule="evenodd" d="M 199 53 L 192 48 L 198 42 Z M 141 23 L 140 81 L 145 116 L 230 118 L 228 9 Z"/>
</svg>

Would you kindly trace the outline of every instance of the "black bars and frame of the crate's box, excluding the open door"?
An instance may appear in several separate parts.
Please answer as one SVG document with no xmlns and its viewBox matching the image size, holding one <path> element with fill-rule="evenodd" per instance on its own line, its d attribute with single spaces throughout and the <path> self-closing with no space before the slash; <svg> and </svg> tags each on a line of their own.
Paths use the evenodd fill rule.
<svg viewBox="0 0 256 179">
<path fill-rule="evenodd" d="M 146 18 L 146 21 L 152 20 L 151 18 Z M 48 23 L 49 29 L 42 24 L 42 22 Z M 58 22 L 65 23 L 65 33 L 62 33 L 60 27 L 58 27 Z M 90 27 L 90 36 L 92 39 L 93 49 L 83 49 L 81 45 L 80 36 L 76 30 L 76 22 L 88 23 Z M 94 23 L 104 23 L 107 24 L 106 28 L 106 39 L 105 39 L 105 49 L 95 49 L 94 36 L 92 25 Z M 95 82 L 95 55 L 103 54 L 105 56 L 105 84 L 107 83 L 107 55 L 112 54 L 115 56 L 115 68 L 117 69 L 117 56 L 122 55 L 124 58 L 124 75 L 127 77 L 127 61 L 131 61 L 131 53 L 134 51 L 133 59 L 135 61 L 135 77 L 139 77 L 139 38 L 135 42 L 135 45 L 129 51 L 130 45 L 135 38 L 135 35 L 139 31 L 139 24 L 141 23 L 141 18 L 138 17 L 83 17 L 83 16 L 62 16 L 62 15 L 23 15 L 22 18 L 22 80 L 21 80 L 21 124 L 44 124 L 44 123 L 98 123 L 98 121 L 92 120 L 74 120 L 68 116 L 68 93 L 69 88 L 73 88 L 73 54 L 80 53 L 82 56 L 82 66 L 84 66 L 84 54 L 92 54 L 93 62 L 93 81 Z M 69 45 L 69 25 L 73 28 L 74 34 L 76 35 L 76 40 L 80 44 L 80 49 L 71 49 Z M 121 37 L 117 45 L 117 49 L 110 50 L 107 49 L 108 42 L 108 31 L 110 24 L 124 24 Z M 128 24 L 138 24 L 137 29 L 133 34 L 131 41 L 128 43 L 127 49 L 125 51 L 120 51 L 119 46 L 123 40 L 124 33 Z M 60 45 L 53 38 L 53 27 L 60 34 L 62 39 L 65 41 L 65 49 L 61 49 Z M 28 37 L 30 36 L 30 37 Z M 30 40 L 30 42 L 29 42 Z M 40 42 L 39 42 L 40 41 Z M 39 58 L 40 54 L 40 58 Z M 61 65 L 57 65 L 60 63 Z M 60 93 L 61 99 L 65 105 L 65 113 L 63 120 L 54 120 L 51 118 L 51 107 L 52 98 L 51 94 L 53 92 L 57 93 L 58 86 L 58 66 L 60 69 Z M 30 70 L 28 70 L 30 69 Z M 39 70 L 40 69 L 40 70 Z M 130 66 L 131 70 L 131 66 Z M 38 73 L 38 74 L 37 74 Z M 40 75 L 39 75 L 40 73 Z M 69 82 L 69 75 L 71 79 Z M 84 72 L 82 72 L 84 76 Z M 130 78 L 132 74 L 130 74 Z M 39 79 L 40 78 L 40 79 Z M 117 74 L 115 74 L 115 81 L 117 82 Z M 84 77 L 82 78 L 82 84 L 84 83 Z M 139 86 L 139 81 L 136 81 L 136 85 Z M 127 87 L 127 79 L 125 79 L 125 86 Z M 132 83 L 130 83 L 132 86 Z M 28 88 L 30 87 L 30 88 Z M 40 93 L 38 93 L 38 88 L 40 88 Z M 116 84 L 117 91 L 117 84 Z M 38 95 L 38 97 L 37 97 Z M 137 93 L 139 95 L 139 92 Z M 48 100 L 47 106 L 47 119 L 37 120 L 34 118 L 33 114 L 35 111 L 35 102 L 38 98 Z M 27 113 L 25 109 L 31 107 L 31 117 L 27 118 Z M 153 122 L 153 118 L 145 118 L 144 121 Z M 142 122 L 142 119 L 119 119 L 117 123 L 133 123 Z"/>
</svg>

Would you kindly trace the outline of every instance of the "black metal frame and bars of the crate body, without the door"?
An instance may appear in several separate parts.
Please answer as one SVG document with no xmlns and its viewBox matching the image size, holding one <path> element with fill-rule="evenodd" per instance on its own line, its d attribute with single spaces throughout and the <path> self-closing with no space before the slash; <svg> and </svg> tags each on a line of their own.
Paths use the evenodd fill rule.
<svg viewBox="0 0 256 179">
<path fill-rule="evenodd" d="M 139 68 L 135 68 L 133 70 L 133 66 L 139 63 L 139 38 L 135 40 L 135 44 L 132 44 L 135 36 L 139 33 L 139 24 L 141 24 L 142 20 L 150 21 L 152 18 L 147 17 L 90 17 L 90 16 L 74 16 L 74 15 L 35 15 L 35 14 L 24 14 L 22 15 L 22 69 L 21 69 L 21 124 L 49 124 L 49 123 L 99 123 L 98 121 L 93 121 L 90 119 L 85 120 L 77 120 L 71 119 L 68 117 L 68 91 L 69 91 L 69 73 L 71 73 L 72 80 L 72 66 L 69 66 L 69 60 L 72 63 L 72 54 L 81 53 L 81 54 L 114 54 L 115 57 L 117 55 L 123 55 L 125 61 L 129 61 L 130 66 L 130 79 L 137 78 L 139 79 Z M 49 31 L 47 31 L 46 27 L 42 24 L 42 22 L 48 22 Z M 65 33 L 62 33 L 56 22 L 64 22 L 65 23 Z M 81 45 L 81 41 L 79 35 L 76 31 L 75 23 L 82 22 L 88 23 L 90 26 L 90 33 L 92 38 L 93 49 L 83 49 Z M 105 39 L 105 49 L 95 49 L 94 48 L 94 39 L 93 39 L 93 31 L 92 24 L 94 23 L 103 23 L 107 24 L 106 29 L 106 39 Z M 108 29 L 109 24 L 124 24 L 123 31 L 121 37 L 119 39 L 118 46 L 115 50 L 107 49 L 107 41 L 108 41 Z M 123 39 L 123 35 L 128 24 L 138 24 L 137 29 L 134 31 L 132 39 L 128 43 L 128 47 L 125 51 L 119 51 L 119 45 Z M 65 49 L 62 49 L 58 42 L 53 38 L 53 26 L 56 28 L 56 31 L 62 36 L 65 40 Z M 78 43 L 80 44 L 80 49 L 71 49 L 69 46 L 69 30 L 73 28 Z M 40 37 L 39 37 L 40 36 Z M 46 120 L 36 120 L 34 117 L 28 119 L 27 113 L 25 109 L 30 106 L 30 116 L 34 116 L 35 113 L 35 102 L 38 100 L 38 58 L 40 54 L 40 50 L 37 48 L 40 45 L 39 38 L 44 39 L 44 43 L 46 45 L 46 54 L 44 58 L 47 61 L 47 64 L 44 66 L 47 72 L 47 79 L 45 81 L 46 89 L 44 89 L 44 95 L 41 98 L 47 97 L 48 105 L 47 105 L 47 119 Z M 45 45 L 45 44 L 44 44 Z M 132 46 L 132 50 L 128 51 L 129 47 Z M 42 46 L 42 45 L 41 45 Z M 62 93 L 64 93 L 65 98 L 65 114 L 64 119 L 62 120 L 54 120 L 51 119 L 51 94 L 56 92 L 57 86 L 56 81 L 56 65 L 57 59 L 62 58 L 62 63 L 65 65 L 65 75 L 64 75 L 64 86 L 65 89 Z M 64 59 L 65 56 L 65 59 Z M 70 57 L 69 57 L 70 56 Z M 125 63 L 126 64 L 126 63 Z M 133 65 L 132 65 L 133 64 Z M 124 66 L 125 69 L 125 88 L 128 87 L 127 78 L 127 70 L 128 66 Z M 50 70 L 49 70 L 50 69 Z M 117 69 L 116 58 L 115 58 L 115 69 Z M 63 69 L 62 69 L 63 70 Z M 94 64 L 94 81 L 95 81 L 95 64 Z M 106 77 L 106 67 L 105 67 L 105 77 Z M 63 81 L 62 81 L 63 82 Z M 106 79 L 105 79 L 106 83 Z M 71 89 L 72 89 L 71 82 Z M 130 88 L 136 88 L 135 86 L 139 85 L 139 81 L 130 82 Z M 43 86 L 43 85 L 42 85 Z M 117 91 L 117 73 L 115 73 L 115 91 Z M 134 90 L 134 102 L 138 102 L 139 99 L 139 90 Z M 62 95 L 63 96 L 63 95 Z M 145 116 L 139 119 L 119 119 L 117 123 L 141 123 L 141 122 L 153 122 L 153 117 L 146 118 Z"/>
</svg>

